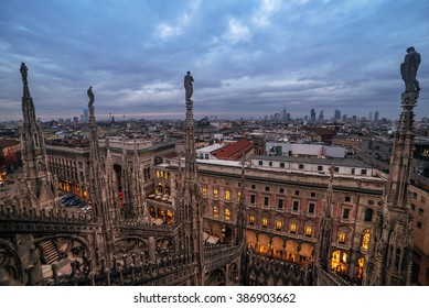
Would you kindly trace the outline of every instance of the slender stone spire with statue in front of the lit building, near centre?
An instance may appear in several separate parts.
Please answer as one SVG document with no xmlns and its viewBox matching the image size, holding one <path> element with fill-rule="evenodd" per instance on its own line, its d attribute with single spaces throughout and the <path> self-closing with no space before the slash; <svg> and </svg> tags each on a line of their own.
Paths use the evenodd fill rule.
<svg viewBox="0 0 429 308">
<path fill-rule="evenodd" d="M 186 257 L 187 262 L 194 263 L 199 268 L 199 271 L 195 272 L 193 285 L 203 285 L 203 198 L 197 183 L 193 101 L 191 100 L 193 81 L 194 79 L 189 72 L 184 78 L 184 87 L 186 90 L 185 166 L 184 175 L 181 176 L 182 180 L 178 187 L 178 219 L 180 223 L 181 254 Z M 181 155 L 179 156 L 179 160 L 181 160 Z M 179 168 L 181 169 L 181 166 Z"/>
</svg>

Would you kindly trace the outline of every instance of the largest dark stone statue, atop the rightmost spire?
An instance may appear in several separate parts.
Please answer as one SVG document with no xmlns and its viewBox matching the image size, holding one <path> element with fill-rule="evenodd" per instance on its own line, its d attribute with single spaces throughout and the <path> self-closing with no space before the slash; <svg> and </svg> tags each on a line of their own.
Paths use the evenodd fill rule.
<svg viewBox="0 0 429 308">
<path fill-rule="evenodd" d="M 420 62 L 420 54 L 412 46 L 408 47 L 407 55 L 400 64 L 400 75 L 405 81 L 406 92 L 417 92 L 420 90 L 419 81 L 416 79 Z"/>
</svg>

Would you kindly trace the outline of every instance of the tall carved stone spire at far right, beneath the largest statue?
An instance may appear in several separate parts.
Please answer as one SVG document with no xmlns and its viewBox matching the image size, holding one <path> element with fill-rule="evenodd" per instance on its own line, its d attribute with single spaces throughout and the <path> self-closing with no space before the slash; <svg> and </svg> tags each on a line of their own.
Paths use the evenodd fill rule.
<svg viewBox="0 0 429 308">
<path fill-rule="evenodd" d="M 410 73 L 414 82 L 417 82 L 417 68 L 418 65 L 414 74 Z M 407 72 L 401 73 L 407 87 L 401 96 L 403 112 L 399 129 L 395 133 L 386 190 L 371 229 L 363 280 L 368 286 L 411 284 L 412 215 L 408 185 L 415 139 L 412 109 L 420 88 L 409 87 Z"/>
</svg>

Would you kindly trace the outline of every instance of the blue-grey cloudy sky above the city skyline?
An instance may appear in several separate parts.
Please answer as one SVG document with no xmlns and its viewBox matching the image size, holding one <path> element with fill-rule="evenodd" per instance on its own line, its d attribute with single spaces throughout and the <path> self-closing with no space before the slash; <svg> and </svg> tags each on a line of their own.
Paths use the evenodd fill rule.
<svg viewBox="0 0 429 308">
<path fill-rule="evenodd" d="M 429 117 L 428 16 L 427 0 L 3 0 L 0 120 L 22 118 L 21 62 L 45 120 L 83 113 L 89 86 L 97 119 L 183 118 L 186 70 L 195 118 L 398 118 L 410 45 Z"/>
</svg>

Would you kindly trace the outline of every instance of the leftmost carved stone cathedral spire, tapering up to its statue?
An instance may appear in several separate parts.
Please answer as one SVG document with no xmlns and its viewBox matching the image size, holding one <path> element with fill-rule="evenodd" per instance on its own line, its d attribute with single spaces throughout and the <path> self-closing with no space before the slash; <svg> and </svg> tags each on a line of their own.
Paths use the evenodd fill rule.
<svg viewBox="0 0 429 308">
<path fill-rule="evenodd" d="M 53 209 L 57 204 L 57 187 L 47 169 L 45 142 L 42 129 L 35 118 L 33 99 L 28 84 L 28 68 L 21 63 L 21 76 L 23 84 L 22 117 L 23 125 L 20 129 L 23 180 L 21 187 L 33 208 Z"/>
</svg>

